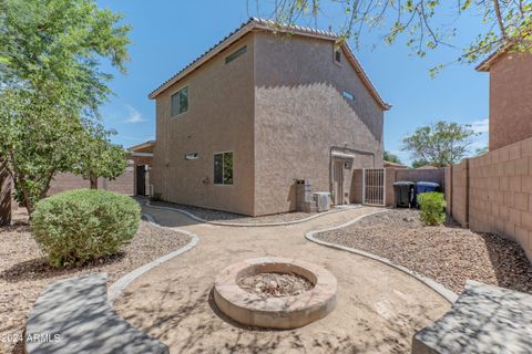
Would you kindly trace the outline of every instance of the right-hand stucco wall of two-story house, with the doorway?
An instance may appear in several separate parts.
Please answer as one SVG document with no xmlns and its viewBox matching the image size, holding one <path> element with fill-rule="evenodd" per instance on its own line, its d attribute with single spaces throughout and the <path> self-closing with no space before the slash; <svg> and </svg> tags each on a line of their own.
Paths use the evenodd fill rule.
<svg viewBox="0 0 532 354">
<path fill-rule="evenodd" d="M 256 214 L 294 210 L 294 179 L 310 179 L 313 191 L 329 191 L 331 147 L 375 153 L 375 163 L 355 153 L 345 170 L 347 192 L 354 169 L 382 167 L 383 112 L 347 59 L 334 62 L 332 42 L 257 33 L 255 61 Z"/>
</svg>

